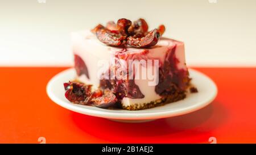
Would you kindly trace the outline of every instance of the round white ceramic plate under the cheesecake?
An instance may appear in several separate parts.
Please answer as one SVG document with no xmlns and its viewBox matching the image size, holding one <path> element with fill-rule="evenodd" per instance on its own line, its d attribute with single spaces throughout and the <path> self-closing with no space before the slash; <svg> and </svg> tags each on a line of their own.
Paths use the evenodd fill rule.
<svg viewBox="0 0 256 155">
<path fill-rule="evenodd" d="M 207 106 L 217 95 L 217 87 L 209 77 L 196 70 L 189 69 L 192 83 L 197 87 L 199 93 L 188 93 L 187 97 L 164 106 L 149 108 L 146 110 L 108 110 L 93 106 L 82 106 L 70 103 L 64 96 L 64 82 L 75 78 L 75 69 L 67 69 L 53 77 L 47 85 L 47 94 L 53 102 L 61 107 L 85 115 L 108 118 L 120 122 L 147 122 L 154 119 L 168 118 L 187 114 Z"/>
</svg>

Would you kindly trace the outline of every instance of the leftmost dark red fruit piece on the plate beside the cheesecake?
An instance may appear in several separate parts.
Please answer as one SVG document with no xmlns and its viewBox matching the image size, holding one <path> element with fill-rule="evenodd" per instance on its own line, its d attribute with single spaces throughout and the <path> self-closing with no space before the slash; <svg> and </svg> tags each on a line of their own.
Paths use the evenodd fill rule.
<svg viewBox="0 0 256 155">
<path fill-rule="evenodd" d="M 91 87 L 91 85 L 84 85 L 78 82 L 64 83 L 65 97 L 70 102 L 81 103 L 90 95 Z"/>
</svg>

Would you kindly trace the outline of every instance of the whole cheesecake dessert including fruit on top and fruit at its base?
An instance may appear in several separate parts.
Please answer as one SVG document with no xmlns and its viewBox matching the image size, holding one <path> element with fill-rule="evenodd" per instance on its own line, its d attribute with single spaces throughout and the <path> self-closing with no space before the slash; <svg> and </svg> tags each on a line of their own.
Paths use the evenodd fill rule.
<svg viewBox="0 0 256 155">
<path fill-rule="evenodd" d="M 184 43 L 148 31 L 144 19 L 72 33 L 77 77 L 64 83 L 76 104 L 141 110 L 184 99 L 189 88 Z"/>
</svg>

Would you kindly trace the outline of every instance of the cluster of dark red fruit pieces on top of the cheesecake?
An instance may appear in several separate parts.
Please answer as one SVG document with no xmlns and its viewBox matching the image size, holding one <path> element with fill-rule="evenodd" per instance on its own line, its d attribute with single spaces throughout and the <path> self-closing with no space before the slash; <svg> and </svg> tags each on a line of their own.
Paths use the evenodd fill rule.
<svg viewBox="0 0 256 155">
<path fill-rule="evenodd" d="M 106 27 L 98 24 L 92 32 L 96 33 L 98 40 L 110 46 L 123 46 L 126 43 L 135 48 L 148 48 L 158 43 L 163 35 L 165 27 L 160 25 L 158 29 L 148 32 L 148 24 L 144 19 L 131 22 L 121 18 L 115 24 L 108 22 Z"/>
</svg>

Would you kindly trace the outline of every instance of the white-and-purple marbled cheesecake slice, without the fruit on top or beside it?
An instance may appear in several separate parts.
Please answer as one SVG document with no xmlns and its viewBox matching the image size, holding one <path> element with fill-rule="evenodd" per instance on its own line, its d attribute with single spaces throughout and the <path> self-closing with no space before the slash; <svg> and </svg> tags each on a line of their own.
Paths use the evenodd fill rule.
<svg viewBox="0 0 256 155">
<path fill-rule="evenodd" d="M 94 89 L 100 87 L 112 90 L 123 108 L 138 110 L 185 97 L 189 77 L 185 65 L 184 43 L 180 41 L 161 38 L 151 48 L 123 49 L 102 44 L 92 32 L 81 31 L 72 33 L 72 49 L 77 79 L 92 85 Z M 137 68 L 129 73 L 134 74 L 134 79 L 102 79 L 102 74 L 110 68 L 120 68 L 121 63 L 112 63 L 113 60 L 127 63 L 133 60 L 133 67 Z M 158 69 L 153 65 L 140 63 L 145 62 L 141 60 L 150 60 L 152 64 L 158 61 Z M 142 77 L 149 72 L 155 74 Z"/>
</svg>

